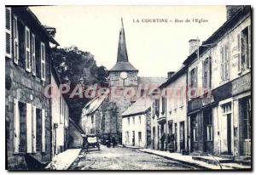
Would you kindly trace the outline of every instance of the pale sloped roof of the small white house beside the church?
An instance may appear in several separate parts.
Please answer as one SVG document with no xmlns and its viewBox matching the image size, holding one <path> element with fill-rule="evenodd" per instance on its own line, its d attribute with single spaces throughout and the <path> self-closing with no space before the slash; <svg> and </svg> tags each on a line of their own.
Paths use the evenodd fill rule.
<svg viewBox="0 0 256 175">
<path fill-rule="evenodd" d="M 121 116 L 132 116 L 136 114 L 145 113 L 151 106 L 152 99 L 149 97 L 147 98 L 140 98 L 132 104 Z"/>
</svg>

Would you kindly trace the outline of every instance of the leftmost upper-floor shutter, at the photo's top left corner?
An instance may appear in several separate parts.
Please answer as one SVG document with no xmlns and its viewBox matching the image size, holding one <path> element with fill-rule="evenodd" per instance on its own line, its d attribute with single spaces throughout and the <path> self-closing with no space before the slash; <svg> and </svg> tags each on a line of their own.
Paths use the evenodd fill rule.
<svg viewBox="0 0 256 175">
<path fill-rule="evenodd" d="M 11 58 L 12 56 L 12 47 L 11 47 L 11 38 L 12 38 L 12 23 L 11 23 L 11 8 L 5 8 L 5 56 Z"/>
</svg>

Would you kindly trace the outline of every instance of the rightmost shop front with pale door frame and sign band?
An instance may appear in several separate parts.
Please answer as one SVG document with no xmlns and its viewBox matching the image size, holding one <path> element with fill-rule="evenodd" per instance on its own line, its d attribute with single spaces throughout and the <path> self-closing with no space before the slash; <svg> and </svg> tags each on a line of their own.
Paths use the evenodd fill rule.
<svg viewBox="0 0 256 175">
<path fill-rule="evenodd" d="M 251 73 L 241 76 L 213 92 L 218 101 L 217 154 L 251 156 L 252 106 Z"/>
</svg>

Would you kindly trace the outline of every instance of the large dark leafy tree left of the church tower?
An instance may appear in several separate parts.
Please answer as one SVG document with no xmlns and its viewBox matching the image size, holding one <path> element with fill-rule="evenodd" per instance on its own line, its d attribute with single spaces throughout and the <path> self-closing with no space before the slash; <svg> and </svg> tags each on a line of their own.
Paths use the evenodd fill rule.
<svg viewBox="0 0 256 175">
<path fill-rule="evenodd" d="M 108 70 L 103 65 L 97 66 L 94 56 L 89 52 L 70 48 L 57 48 L 52 55 L 53 66 L 58 72 L 61 83 L 69 84 L 71 90 L 64 94 L 69 106 L 70 117 L 79 123 L 84 105 L 90 100 L 84 98 L 70 98 L 70 93 L 77 85 L 84 89 L 94 84 L 100 87 L 108 87 Z"/>
</svg>

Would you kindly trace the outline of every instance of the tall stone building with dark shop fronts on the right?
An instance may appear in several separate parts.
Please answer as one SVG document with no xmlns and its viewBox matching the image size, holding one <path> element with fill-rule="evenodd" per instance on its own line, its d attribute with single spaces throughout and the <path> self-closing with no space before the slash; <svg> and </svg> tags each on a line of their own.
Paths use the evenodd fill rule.
<svg viewBox="0 0 256 175">
<path fill-rule="evenodd" d="M 251 7 L 227 6 L 224 25 L 184 61 L 190 152 L 250 160 L 251 33 Z"/>
</svg>

